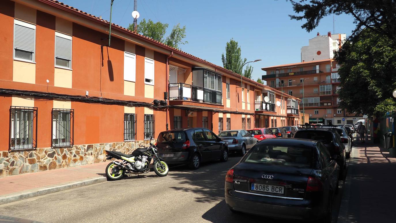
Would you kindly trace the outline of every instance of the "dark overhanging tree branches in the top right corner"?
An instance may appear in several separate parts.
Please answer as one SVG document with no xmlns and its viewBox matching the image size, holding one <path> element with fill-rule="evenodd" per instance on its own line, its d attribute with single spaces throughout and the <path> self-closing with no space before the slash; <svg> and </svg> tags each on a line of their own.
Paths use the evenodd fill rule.
<svg viewBox="0 0 396 223">
<path fill-rule="evenodd" d="M 308 32 L 315 29 L 327 15 L 348 14 L 354 17 L 358 34 L 367 28 L 372 32 L 396 40 L 396 1 L 395 0 L 290 0 L 293 10 L 303 15 L 289 15 L 291 19 L 306 19 L 301 27 Z M 354 35 L 352 34 L 352 36 Z"/>
</svg>

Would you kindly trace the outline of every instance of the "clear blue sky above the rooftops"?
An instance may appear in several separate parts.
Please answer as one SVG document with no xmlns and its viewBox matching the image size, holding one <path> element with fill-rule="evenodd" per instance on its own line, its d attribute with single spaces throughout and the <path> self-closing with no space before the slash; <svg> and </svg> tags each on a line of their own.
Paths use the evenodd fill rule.
<svg viewBox="0 0 396 223">
<path fill-rule="evenodd" d="M 110 18 L 110 0 L 61 0 L 79 10 Z M 128 27 L 133 22 L 133 0 L 114 0 L 112 22 Z M 333 16 L 325 17 L 308 33 L 304 21 L 290 20 L 295 14 L 286 0 L 137 0 L 139 21 L 143 18 L 168 23 L 168 32 L 180 23 L 186 26 L 188 44 L 181 50 L 223 66 L 221 53 L 231 38 L 238 41 L 242 57 L 262 59 L 253 65 L 253 79 L 261 78 L 262 67 L 300 62 L 301 46 L 328 31 L 333 33 Z M 349 15 L 335 16 L 335 33 L 350 35 L 355 25 Z M 168 33 L 167 32 L 167 33 Z"/>
</svg>

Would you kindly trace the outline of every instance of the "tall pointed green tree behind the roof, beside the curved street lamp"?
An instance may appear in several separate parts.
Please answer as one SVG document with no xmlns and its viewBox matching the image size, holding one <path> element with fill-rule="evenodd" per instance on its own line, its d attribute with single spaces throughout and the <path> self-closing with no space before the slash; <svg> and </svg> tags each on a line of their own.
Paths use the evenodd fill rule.
<svg viewBox="0 0 396 223">
<path fill-rule="evenodd" d="M 225 46 L 225 55 L 221 54 L 221 61 L 223 62 L 223 67 L 237 74 L 242 74 L 242 65 L 246 63 L 246 58 L 242 60 L 241 57 L 241 47 L 238 45 L 233 38 L 230 42 L 227 42 Z M 247 78 L 251 78 L 251 73 L 253 72 L 253 67 L 247 66 L 243 75 Z"/>
</svg>

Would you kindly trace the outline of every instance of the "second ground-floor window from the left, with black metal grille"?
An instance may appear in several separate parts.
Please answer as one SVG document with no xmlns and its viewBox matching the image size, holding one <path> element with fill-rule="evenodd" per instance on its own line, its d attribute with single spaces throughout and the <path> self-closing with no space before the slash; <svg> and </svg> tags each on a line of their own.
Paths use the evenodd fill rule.
<svg viewBox="0 0 396 223">
<path fill-rule="evenodd" d="M 52 109 L 51 147 L 73 145 L 73 109 Z"/>
</svg>

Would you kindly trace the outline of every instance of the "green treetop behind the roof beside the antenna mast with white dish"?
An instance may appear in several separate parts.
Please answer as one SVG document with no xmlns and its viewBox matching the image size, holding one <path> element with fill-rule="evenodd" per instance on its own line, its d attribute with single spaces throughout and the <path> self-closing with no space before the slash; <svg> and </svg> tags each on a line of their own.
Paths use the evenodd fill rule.
<svg viewBox="0 0 396 223">
<path fill-rule="evenodd" d="M 186 26 L 181 28 L 179 23 L 173 27 L 169 36 L 164 37 L 168 26 L 168 23 L 154 23 L 151 19 L 148 19 L 148 21 L 142 19 L 137 25 L 137 32 L 174 48 L 179 48 L 179 44 L 188 43 L 183 41 L 186 37 Z M 133 24 L 129 24 L 128 29 L 133 30 Z"/>
</svg>

